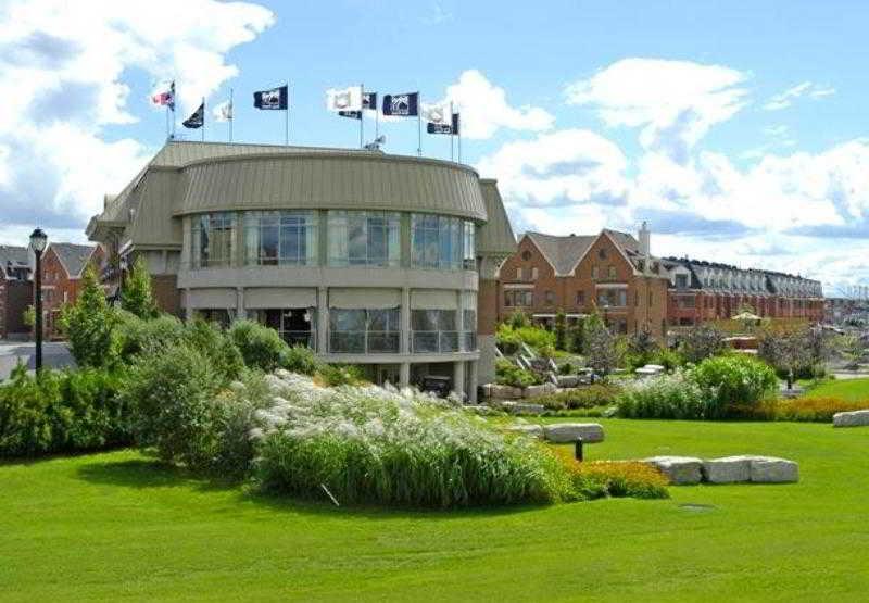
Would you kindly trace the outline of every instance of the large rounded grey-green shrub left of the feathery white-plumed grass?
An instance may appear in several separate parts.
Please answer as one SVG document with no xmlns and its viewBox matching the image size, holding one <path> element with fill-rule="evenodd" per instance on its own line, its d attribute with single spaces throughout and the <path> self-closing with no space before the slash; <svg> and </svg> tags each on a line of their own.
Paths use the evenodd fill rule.
<svg viewBox="0 0 869 603">
<path fill-rule="evenodd" d="M 137 357 L 122 386 L 139 445 L 163 461 L 205 468 L 217 454 L 214 398 L 222 384 L 213 363 L 189 343 Z"/>
</svg>

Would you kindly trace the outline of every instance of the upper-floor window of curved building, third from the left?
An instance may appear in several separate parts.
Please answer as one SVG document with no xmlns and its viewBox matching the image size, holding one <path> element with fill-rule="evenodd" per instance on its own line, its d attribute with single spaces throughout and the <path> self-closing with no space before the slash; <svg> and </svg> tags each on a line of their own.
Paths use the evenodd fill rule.
<svg viewBox="0 0 869 603">
<path fill-rule="evenodd" d="M 398 266 L 401 217 L 395 212 L 329 211 L 330 266 Z"/>
</svg>

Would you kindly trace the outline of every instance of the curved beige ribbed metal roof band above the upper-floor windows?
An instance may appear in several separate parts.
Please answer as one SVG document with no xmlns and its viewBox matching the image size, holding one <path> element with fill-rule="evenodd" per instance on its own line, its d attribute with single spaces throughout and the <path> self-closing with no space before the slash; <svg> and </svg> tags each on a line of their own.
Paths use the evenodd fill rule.
<svg viewBox="0 0 869 603">
<path fill-rule="evenodd" d="M 262 149 L 180 167 L 174 215 L 228 210 L 366 209 L 487 219 L 473 169 L 360 151 Z"/>
</svg>

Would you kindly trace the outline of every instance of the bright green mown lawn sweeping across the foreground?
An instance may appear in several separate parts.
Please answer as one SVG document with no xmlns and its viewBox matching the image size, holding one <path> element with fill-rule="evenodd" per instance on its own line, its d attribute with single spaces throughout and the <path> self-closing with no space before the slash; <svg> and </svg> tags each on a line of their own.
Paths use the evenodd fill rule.
<svg viewBox="0 0 869 603">
<path fill-rule="evenodd" d="M 0 466 L 0 600 L 858 600 L 869 428 L 603 422 L 590 457 L 763 453 L 784 486 L 465 512 L 336 508 L 131 451 Z M 694 505 L 694 506 L 684 506 Z M 708 506 L 705 506 L 708 505 Z"/>
</svg>

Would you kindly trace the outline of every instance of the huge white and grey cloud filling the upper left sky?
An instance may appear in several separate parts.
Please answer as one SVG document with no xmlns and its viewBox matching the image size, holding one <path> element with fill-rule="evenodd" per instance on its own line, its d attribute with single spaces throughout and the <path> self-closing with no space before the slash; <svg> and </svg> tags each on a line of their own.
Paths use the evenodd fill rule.
<svg viewBox="0 0 869 603">
<path fill-rule="evenodd" d="M 0 7 L 0 231 L 34 223 L 75 231 L 147 160 L 104 128 L 136 121 L 125 83 L 139 71 L 178 81 L 178 116 L 238 70 L 226 53 L 274 15 L 213 0 L 12 1 Z M 15 230 L 17 233 L 17 230 Z"/>
</svg>

